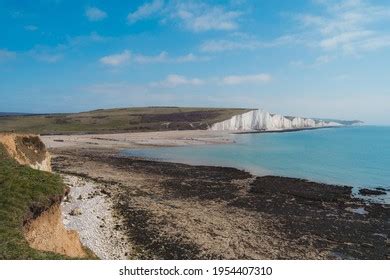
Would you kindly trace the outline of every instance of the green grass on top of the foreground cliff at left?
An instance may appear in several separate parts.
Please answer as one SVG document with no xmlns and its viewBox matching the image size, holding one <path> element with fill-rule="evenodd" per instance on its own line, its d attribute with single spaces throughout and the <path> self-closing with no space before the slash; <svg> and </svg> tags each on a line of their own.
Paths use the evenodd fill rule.
<svg viewBox="0 0 390 280">
<path fill-rule="evenodd" d="M 63 259 L 28 246 L 23 221 L 31 207 L 48 208 L 64 193 L 58 175 L 19 165 L 0 144 L 0 259 Z"/>
</svg>

